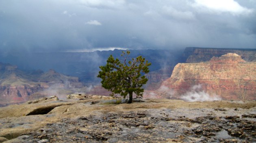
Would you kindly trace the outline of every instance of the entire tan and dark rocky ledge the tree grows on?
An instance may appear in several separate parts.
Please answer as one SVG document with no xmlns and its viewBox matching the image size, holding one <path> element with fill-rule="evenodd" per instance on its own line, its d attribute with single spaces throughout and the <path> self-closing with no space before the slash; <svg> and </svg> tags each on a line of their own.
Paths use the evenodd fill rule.
<svg viewBox="0 0 256 143">
<path fill-rule="evenodd" d="M 0 142 L 256 142 L 256 101 L 185 102 L 98 95 L 0 108 Z"/>
</svg>

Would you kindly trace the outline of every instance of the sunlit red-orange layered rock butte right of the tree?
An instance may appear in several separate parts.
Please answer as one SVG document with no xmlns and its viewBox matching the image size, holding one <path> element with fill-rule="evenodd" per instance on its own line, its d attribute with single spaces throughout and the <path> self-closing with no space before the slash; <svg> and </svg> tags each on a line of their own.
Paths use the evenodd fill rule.
<svg viewBox="0 0 256 143">
<path fill-rule="evenodd" d="M 256 62 L 246 62 L 239 55 L 228 53 L 213 57 L 208 62 L 178 63 L 171 78 L 162 86 L 172 90 L 169 97 L 174 99 L 189 93 L 207 94 L 224 100 L 255 100 Z M 161 92 L 159 89 L 155 94 L 169 98 Z"/>
</svg>

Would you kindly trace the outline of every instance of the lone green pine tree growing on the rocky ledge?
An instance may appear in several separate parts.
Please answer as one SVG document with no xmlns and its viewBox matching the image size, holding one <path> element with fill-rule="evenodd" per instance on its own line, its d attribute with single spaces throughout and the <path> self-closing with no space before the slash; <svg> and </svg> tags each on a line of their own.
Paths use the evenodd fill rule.
<svg viewBox="0 0 256 143">
<path fill-rule="evenodd" d="M 98 78 L 101 78 L 102 87 L 114 94 L 120 94 L 124 98 L 129 94 L 128 103 L 132 103 L 132 95 L 142 97 L 144 89 L 141 88 L 146 84 L 148 79 L 142 75 L 149 72 L 148 66 L 151 63 L 145 61 L 145 58 L 139 56 L 129 61 L 130 51 L 122 52 L 122 60 L 114 59 L 112 55 L 108 57 L 107 63 L 100 66 Z"/>
</svg>

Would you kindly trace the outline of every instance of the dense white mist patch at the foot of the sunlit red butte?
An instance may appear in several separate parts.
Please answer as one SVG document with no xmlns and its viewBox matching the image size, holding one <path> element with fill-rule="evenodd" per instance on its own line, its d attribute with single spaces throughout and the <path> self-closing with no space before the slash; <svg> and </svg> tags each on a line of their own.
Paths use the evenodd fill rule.
<svg viewBox="0 0 256 143">
<path fill-rule="evenodd" d="M 194 101 L 216 101 L 221 100 L 218 95 L 209 95 L 204 90 L 202 90 L 201 84 L 194 85 L 190 91 L 185 93 L 180 97 L 184 101 L 194 102 Z"/>
</svg>

